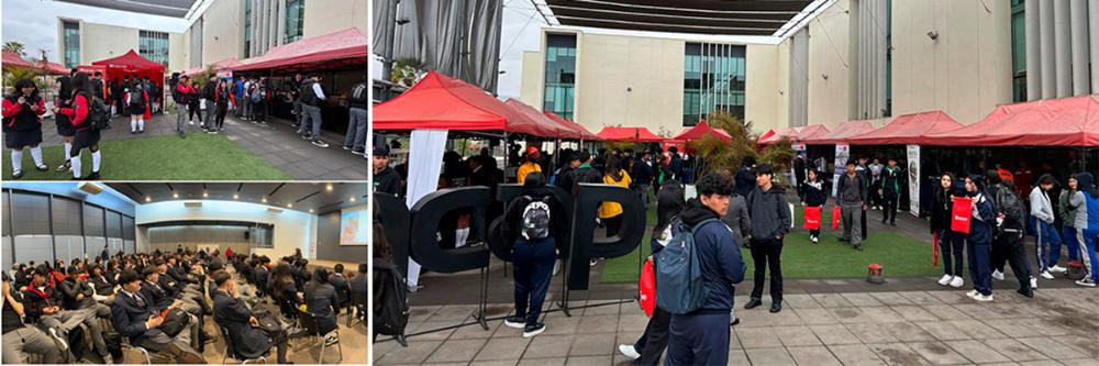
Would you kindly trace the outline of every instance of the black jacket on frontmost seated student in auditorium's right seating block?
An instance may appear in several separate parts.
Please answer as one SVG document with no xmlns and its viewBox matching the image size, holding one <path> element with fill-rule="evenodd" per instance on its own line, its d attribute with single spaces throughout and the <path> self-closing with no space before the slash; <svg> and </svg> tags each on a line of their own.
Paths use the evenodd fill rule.
<svg viewBox="0 0 1099 366">
<path fill-rule="evenodd" d="M 244 306 L 243 300 L 234 299 L 224 291 L 214 292 L 213 321 L 232 337 L 233 350 L 248 358 L 258 357 L 271 347 L 271 339 L 248 324 L 251 318 L 252 311 Z"/>
</svg>

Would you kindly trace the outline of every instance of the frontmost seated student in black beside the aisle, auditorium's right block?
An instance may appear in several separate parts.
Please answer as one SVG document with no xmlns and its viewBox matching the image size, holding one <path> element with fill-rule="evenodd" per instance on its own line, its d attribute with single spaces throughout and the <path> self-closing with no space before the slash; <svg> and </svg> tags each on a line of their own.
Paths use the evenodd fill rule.
<svg viewBox="0 0 1099 366">
<path fill-rule="evenodd" d="M 236 353 L 249 358 L 258 357 L 270 350 L 271 345 L 277 345 L 278 363 L 288 364 L 286 332 L 271 334 L 259 328 L 259 322 L 245 306 L 244 300 L 237 298 L 236 281 L 230 280 L 232 276 L 229 273 L 220 270 L 210 277 L 218 286 L 213 298 L 213 321 L 229 333 Z"/>
</svg>

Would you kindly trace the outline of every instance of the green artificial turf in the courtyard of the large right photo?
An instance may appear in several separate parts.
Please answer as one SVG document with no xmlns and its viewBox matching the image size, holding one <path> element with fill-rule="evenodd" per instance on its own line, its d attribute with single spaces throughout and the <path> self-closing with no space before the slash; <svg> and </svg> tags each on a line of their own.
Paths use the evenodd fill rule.
<svg viewBox="0 0 1099 366">
<path fill-rule="evenodd" d="M 932 265 L 930 240 L 928 243 L 914 241 L 895 232 L 872 231 L 863 252 L 843 245 L 837 240 L 840 232 L 831 226 L 831 210 L 824 210 L 820 244 L 809 242 L 809 232 L 801 229 L 802 209 L 795 210 L 795 231 L 787 235 L 782 246 L 782 276 L 785 278 L 864 278 L 866 267 L 872 263 L 882 266 L 887 277 L 935 276 L 942 267 Z M 650 209 L 650 225 L 655 224 L 655 210 Z M 648 255 L 648 237 L 633 253 L 610 258 L 603 265 L 600 280 L 603 282 L 634 282 L 637 280 L 637 251 Z M 752 277 L 752 253 L 741 249 L 741 257 L 747 265 L 745 278 Z"/>
</svg>

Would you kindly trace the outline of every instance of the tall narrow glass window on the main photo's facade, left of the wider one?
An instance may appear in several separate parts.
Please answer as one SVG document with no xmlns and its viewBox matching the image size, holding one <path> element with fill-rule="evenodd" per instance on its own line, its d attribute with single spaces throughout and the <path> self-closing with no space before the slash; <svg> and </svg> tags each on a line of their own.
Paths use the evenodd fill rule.
<svg viewBox="0 0 1099 366">
<path fill-rule="evenodd" d="M 576 35 L 546 35 L 545 93 L 542 110 L 573 119 L 576 85 Z"/>
</svg>

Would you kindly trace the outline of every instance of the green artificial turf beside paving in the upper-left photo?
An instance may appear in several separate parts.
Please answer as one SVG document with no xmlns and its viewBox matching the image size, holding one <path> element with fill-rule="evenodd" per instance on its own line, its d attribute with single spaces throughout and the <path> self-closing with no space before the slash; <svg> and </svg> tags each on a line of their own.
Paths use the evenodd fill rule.
<svg viewBox="0 0 1099 366">
<path fill-rule="evenodd" d="M 103 141 L 100 177 L 103 180 L 290 180 L 282 170 L 252 154 L 224 135 L 188 134 Z M 69 173 L 55 171 L 64 162 L 63 146 L 42 149 L 48 171 L 34 168 L 30 151 L 23 153 L 20 180 L 67 180 Z M 3 179 L 11 179 L 11 151 L 3 151 Z M 91 153 L 81 154 L 81 170 L 91 173 Z"/>
</svg>

